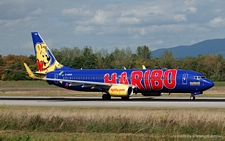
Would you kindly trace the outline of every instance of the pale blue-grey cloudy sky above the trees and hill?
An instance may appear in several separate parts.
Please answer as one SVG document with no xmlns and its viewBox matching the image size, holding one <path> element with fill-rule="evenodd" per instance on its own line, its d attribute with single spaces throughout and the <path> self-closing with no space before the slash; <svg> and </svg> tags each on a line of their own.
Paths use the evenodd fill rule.
<svg viewBox="0 0 225 141">
<path fill-rule="evenodd" d="M 1 0 L 0 55 L 50 49 L 148 46 L 151 51 L 225 38 L 224 0 Z"/>
</svg>

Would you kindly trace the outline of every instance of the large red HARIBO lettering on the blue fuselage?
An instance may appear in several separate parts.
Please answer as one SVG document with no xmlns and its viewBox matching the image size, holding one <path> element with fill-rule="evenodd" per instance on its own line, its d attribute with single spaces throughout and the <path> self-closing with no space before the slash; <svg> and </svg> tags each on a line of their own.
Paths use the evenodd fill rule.
<svg viewBox="0 0 225 141">
<path fill-rule="evenodd" d="M 106 73 L 104 75 L 104 82 L 110 83 L 110 84 L 116 84 L 117 83 L 116 77 L 117 77 L 117 73 L 111 74 L 111 77 L 109 73 Z M 158 90 L 162 90 L 164 86 L 167 89 L 174 89 L 177 85 L 176 77 L 177 77 L 177 70 L 175 69 L 166 70 L 165 72 L 163 72 L 163 70 L 152 70 L 152 71 L 146 70 L 145 72 L 132 71 L 130 83 L 142 91 L 144 90 L 158 91 Z M 118 83 L 129 84 L 126 71 L 121 73 Z"/>
</svg>

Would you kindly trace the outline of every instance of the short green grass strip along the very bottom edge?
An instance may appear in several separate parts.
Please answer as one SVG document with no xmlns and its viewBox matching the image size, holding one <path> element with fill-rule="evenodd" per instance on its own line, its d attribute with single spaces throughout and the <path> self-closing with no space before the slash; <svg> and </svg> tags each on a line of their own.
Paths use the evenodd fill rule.
<svg viewBox="0 0 225 141">
<path fill-rule="evenodd" d="M 24 131 L 4 131 L 0 133 L 0 140 L 15 141 L 220 141 L 221 136 L 196 136 L 196 135 L 151 135 L 151 134 L 99 134 L 99 133 L 46 133 L 46 132 L 24 132 Z"/>
</svg>

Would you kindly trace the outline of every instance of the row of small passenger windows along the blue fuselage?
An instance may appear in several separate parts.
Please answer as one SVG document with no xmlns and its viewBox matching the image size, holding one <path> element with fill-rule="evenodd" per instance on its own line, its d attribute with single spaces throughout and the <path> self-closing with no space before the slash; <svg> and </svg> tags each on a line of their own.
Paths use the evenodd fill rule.
<svg viewBox="0 0 225 141">
<path fill-rule="evenodd" d="M 63 77 L 63 79 L 70 79 L 70 80 L 103 80 L 104 78 L 103 77 L 90 77 L 90 76 L 88 76 L 88 77 L 80 77 L 80 76 L 78 76 L 78 77 Z M 115 79 L 120 79 L 119 77 L 117 77 L 117 78 L 111 78 L 111 77 L 109 77 L 108 78 L 109 80 L 115 80 Z M 123 78 L 123 79 L 126 79 L 126 78 Z M 132 77 L 130 78 L 130 77 L 127 77 L 127 79 L 129 80 L 129 79 L 132 79 Z M 135 79 L 140 79 L 139 77 L 136 77 Z M 148 77 L 144 77 L 144 78 L 142 78 L 142 79 L 147 79 L 147 80 L 149 80 L 149 79 L 152 79 L 152 80 L 162 80 L 163 78 L 162 77 L 151 77 L 151 78 L 148 78 Z M 168 79 L 168 78 L 164 78 L 164 79 Z M 175 80 L 175 78 L 170 78 L 169 80 Z"/>
</svg>

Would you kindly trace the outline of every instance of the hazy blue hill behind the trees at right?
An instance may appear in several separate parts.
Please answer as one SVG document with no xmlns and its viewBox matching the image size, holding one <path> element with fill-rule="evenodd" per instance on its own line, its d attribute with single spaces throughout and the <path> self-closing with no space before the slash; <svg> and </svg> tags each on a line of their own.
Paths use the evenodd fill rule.
<svg viewBox="0 0 225 141">
<path fill-rule="evenodd" d="M 225 57 L 225 39 L 205 40 L 190 46 L 177 46 L 152 51 L 153 57 L 159 57 L 165 50 L 171 51 L 174 57 L 198 57 L 198 55 L 221 54 Z"/>
</svg>

